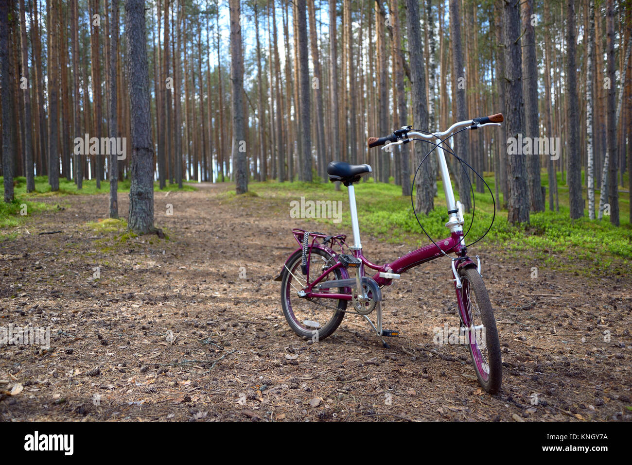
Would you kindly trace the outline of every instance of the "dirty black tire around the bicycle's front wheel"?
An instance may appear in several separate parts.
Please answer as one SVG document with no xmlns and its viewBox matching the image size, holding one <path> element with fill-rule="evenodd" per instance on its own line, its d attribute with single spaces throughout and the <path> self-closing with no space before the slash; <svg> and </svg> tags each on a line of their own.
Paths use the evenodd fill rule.
<svg viewBox="0 0 632 465">
<path fill-rule="evenodd" d="M 502 361 L 501 344 L 498 340 L 492 303 L 489 300 L 485 283 L 475 267 L 459 270 L 459 276 L 463 287 L 458 289 L 458 291 L 461 293 L 465 305 L 469 303 L 470 315 L 473 317 L 474 326 L 480 325 L 482 322 L 483 329 L 485 329 L 485 347 L 480 347 L 480 352 L 477 351 L 477 354 L 480 353 L 485 360 L 483 370 L 479 368 L 477 363 L 477 358 L 475 357 L 476 349 L 473 349 L 472 344 L 468 343 L 472 365 L 481 387 L 489 394 L 496 394 L 501 389 Z M 463 322 L 461 322 L 461 325 L 463 326 Z M 471 341 L 469 337 L 466 340 L 468 342 Z M 488 367 L 489 373 L 485 373 L 485 369 Z"/>
</svg>

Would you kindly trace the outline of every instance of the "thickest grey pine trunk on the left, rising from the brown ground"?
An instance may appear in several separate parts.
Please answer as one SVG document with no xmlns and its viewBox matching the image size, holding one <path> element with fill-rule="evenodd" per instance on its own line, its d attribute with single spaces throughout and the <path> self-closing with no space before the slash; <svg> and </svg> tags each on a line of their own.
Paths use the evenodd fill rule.
<svg viewBox="0 0 632 465">
<path fill-rule="evenodd" d="M 154 145 L 151 139 L 145 2 L 125 0 L 127 75 L 131 112 L 131 186 L 128 227 L 137 234 L 154 228 Z"/>
</svg>

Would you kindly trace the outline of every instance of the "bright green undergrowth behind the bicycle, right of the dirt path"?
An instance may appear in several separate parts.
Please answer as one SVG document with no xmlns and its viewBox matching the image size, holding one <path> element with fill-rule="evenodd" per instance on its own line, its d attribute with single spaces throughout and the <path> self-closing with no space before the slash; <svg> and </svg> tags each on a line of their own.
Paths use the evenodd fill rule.
<svg viewBox="0 0 632 465">
<path fill-rule="evenodd" d="M 545 181 L 545 174 L 542 178 Z M 494 178 L 486 176 L 485 180 L 494 192 Z M 344 186 L 341 186 L 340 191 L 336 191 L 332 183 L 267 181 L 252 183 L 248 189 L 257 195 L 258 198 L 255 201 L 273 201 L 277 206 L 278 214 L 286 215 L 286 217 L 290 217 L 290 202 L 296 200 L 300 203 L 301 196 L 306 202 L 308 200 L 341 201 L 341 222 L 335 223 L 331 217 L 314 218 L 313 221 L 319 223 L 315 229 L 323 229 L 327 233 L 333 231 L 350 233 L 348 194 Z M 355 190 L 360 230 L 365 238 L 368 234 L 389 243 L 403 241 L 412 241 L 417 245 L 429 243 L 415 219 L 410 196 L 402 196 L 400 186 L 375 183 L 370 179 L 367 182 L 355 184 Z M 238 197 L 234 195 L 234 192 L 226 196 L 227 199 L 234 197 Z M 599 202 L 599 192 L 596 198 Z M 466 237 L 468 244 L 483 236 L 494 217 L 494 203 L 489 192 L 487 195 L 475 193 L 474 199 L 476 206 L 474 214 L 472 215 L 471 212 L 465 214 L 466 231 L 470 228 L 472 217 L 474 219 Z M 449 234 L 444 226 L 448 215 L 441 182 L 438 183 L 438 195 L 434 200 L 434 210 L 428 215 L 418 214 L 418 219 L 430 237 L 436 241 Z M 537 258 L 556 269 L 568 267 L 587 274 L 592 273 L 593 270 L 632 272 L 629 260 L 632 257 L 632 228 L 628 221 L 629 201 L 627 198 L 623 198 L 622 195 L 620 199 L 620 227 L 612 226 L 609 217 L 604 217 L 603 220 L 590 220 L 586 216 L 571 220 L 568 192 L 563 193 L 562 190 L 559 191 L 559 212 L 549 211 L 548 207 L 547 200 L 547 210 L 532 212 L 530 224 L 511 226 L 507 222 L 507 211 L 500 210 L 499 202 L 496 200 L 494 224 L 489 234 L 479 244 L 513 253 L 517 257 Z M 585 214 L 588 214 L 587 210 Z M 327 224 L 327 227 L 324 224 Z M 582 264 L 577 265 L 573 263 L 573 260 L 580 260 Z"/>
</svg>

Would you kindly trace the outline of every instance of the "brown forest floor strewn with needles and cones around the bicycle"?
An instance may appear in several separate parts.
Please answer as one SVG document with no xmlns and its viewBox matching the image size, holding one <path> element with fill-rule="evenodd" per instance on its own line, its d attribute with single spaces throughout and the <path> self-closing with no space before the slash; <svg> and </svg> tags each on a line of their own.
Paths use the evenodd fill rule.
<svg viewBox="0 0 632 465">
<path fill-rule="evenodd" d="M 59 209 L 0 243 L 0 329 L 51 328 L 49 349 L 0 347 L 1 420 L 632 419 L 632 276 L 472 250 L 502 346 L 490 396 L 466 346 L 433 342 L 458 325 L 444 260 L 385 289 L 384 326 L 401 332 L 390 349 L 351 314 L 312 343 L 289 329 L 272 279 L 292 227 L 327 226 L 290 219 L 287 198 L 196 186 L 155 193 L 167 239 L 90 225 L 103 194 L 46 198 Z M 373 262 L 409 247 L 363 239 Z"/>
</svg>

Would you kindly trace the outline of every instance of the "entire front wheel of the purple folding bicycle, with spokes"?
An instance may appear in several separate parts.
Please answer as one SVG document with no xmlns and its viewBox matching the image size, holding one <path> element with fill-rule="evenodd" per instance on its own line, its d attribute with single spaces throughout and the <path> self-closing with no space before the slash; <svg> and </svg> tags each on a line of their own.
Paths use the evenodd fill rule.
<svg viewBox="0 0 632 465">
<path fill-rule="evenodd" d="M 501 389 L 502 362 L 492 303 L 476 268 L 459 270 L 459 277 L 463 284 L 456 290 L 460 297 L 461 329 L 470 348 L 472 365 L 481 387 L 489 394 L 496 394 Z"/>
</svg>

